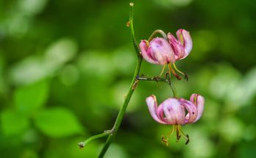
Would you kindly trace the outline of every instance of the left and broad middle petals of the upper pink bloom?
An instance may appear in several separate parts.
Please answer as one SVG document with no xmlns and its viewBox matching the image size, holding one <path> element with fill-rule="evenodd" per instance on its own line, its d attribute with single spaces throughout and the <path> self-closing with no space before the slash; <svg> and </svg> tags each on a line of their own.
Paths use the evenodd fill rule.
<svg viewBox="0 0 256 158">
<path fill-rule="evenodd" d="M 147 40 L 141 40 L 139 46 L 141 55 L 147 62 L 157 65 L 175 62 L 174 50 L 163 37 L 156 37 L 150 43 Z"/>
</svg>

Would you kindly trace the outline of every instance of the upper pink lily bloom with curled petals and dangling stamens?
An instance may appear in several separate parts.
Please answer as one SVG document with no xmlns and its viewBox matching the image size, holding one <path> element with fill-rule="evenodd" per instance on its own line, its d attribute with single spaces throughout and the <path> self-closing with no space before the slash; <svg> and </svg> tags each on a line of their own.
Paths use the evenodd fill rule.
<svg viewBox="0 0 256 158">
<path fill-rule="evenodd" d="M 151 41 L 141 40 L 139 45 L 141 49 L 141 56 L 147 62 L 156 65 L 163 65 L 163 70 L 160 75 L 163 74 L 163 71 L 168 65 L 168 72 L 173 73 L 177 79 L 181 79 L 179 75 L 174 71 L 174 69 L 185 76 L 185 79 L 188 80 L 187 74 L 179 71 L 177 69 L 175 62 L 177 60 L 182 60 L 190 54 L 193 43 L 191 35 L 185 29 L 179 29 L 177 31 L 177 39 L 171 33 L 167 35 L 168 39 L 163 37 L 155 37 Z M 174 68 L 172 68 L 172 65 Z"/>
</svg>

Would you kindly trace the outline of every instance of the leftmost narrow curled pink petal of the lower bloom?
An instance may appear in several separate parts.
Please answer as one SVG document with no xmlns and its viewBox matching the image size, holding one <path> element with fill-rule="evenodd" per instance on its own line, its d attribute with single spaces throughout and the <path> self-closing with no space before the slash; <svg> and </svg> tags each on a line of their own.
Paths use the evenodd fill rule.
<svg viewBox="0 0 256 158">
<path fill-rule="evenodd" d="M 157 98 L 154 95 L 146 98 L 146 104 L 149 107 L 149 112 L 152 115 L 152 118 L 159 123 L 166 124 L 166 122 L 160 120 L 159 115 L 157 115 Z"/>
</svg>

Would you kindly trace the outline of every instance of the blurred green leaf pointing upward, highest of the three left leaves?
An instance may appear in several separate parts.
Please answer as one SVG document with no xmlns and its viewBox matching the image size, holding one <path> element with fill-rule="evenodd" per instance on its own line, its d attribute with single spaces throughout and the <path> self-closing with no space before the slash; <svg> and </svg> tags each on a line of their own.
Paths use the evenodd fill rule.
<svg viewBox="0 0 256 158">
<path fill-rule="evenodd" d="M 47 101 L 49 85 L 45 80 L 33 85 L 19 87 L 14 93 L 15 107 L 19 112 L 29 113 L 43 107 Z"/>
</svg>

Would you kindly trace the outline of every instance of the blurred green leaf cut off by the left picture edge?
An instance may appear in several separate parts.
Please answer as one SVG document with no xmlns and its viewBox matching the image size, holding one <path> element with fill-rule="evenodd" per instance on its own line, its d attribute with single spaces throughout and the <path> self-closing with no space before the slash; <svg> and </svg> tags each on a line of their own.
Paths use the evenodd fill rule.
<svg viewBox="0 0 256 158">
<path fill-rule="evenodd" d="M 1 130 L 6 136 L 22 134 L 29 127 L 29 120 L 24 115 L 14 111 L 1 112 Z"/>
</svg>

